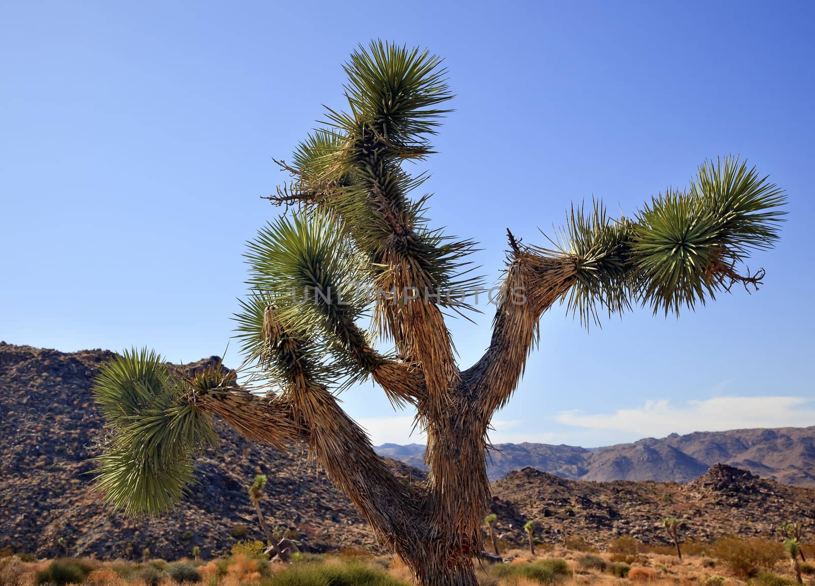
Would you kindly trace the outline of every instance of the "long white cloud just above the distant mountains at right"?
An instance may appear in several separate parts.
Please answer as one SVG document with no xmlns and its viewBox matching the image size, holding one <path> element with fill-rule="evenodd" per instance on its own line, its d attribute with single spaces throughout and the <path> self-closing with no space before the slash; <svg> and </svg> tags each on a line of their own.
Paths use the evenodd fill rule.
<svg viewBox="0 0 815 586">
<path fill-rule="evenodd" d="M 725 431 L 751 427 L 815 425 L 815 400 L 805 397 L 715 397 L 673 404 L 668 399 L 645 401 L 639 408 L 590 414 L 564 411 L 558 423 L 592 430 L 623 431 L 640 437 L 664 437 L 694 431 Z"/>
</svg>

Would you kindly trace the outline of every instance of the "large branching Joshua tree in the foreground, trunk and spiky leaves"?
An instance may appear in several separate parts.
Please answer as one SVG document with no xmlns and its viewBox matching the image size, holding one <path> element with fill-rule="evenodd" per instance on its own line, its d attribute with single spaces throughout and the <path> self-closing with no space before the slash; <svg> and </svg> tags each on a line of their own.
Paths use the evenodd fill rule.
<svg viewBox="0 0 815 586">
<path fill-rule="evenodd" d="M 428 197 L 413 196 L 424 177 L 403 168 L 433 152 L 452 98 L 446 73 L 427 51 L 382 42 L 360 47 L 345 70 L 347 111 L 328 109 L 280 161 L 292 179 L 269 199 L 285 212 L 246 254 L 250 290 L 236 319 L 241 381 L 253 388 L 220 368 L 185 376 L 147 350 L 112 360 L 96 387 L 109 431 L 99 486 L 129 513 L 168 508 L 194 479 L 192 454 L 214 438 L 218 415 L 250 440 L 305 444 L 419 584 L 473 586 L 490 497 L 487 430 L 518 386 L 540 316 L 557 302 L 584 325 L 634 306 L 678 315 L 733 284 L 757 286 L 764 271 L 739 267 L 777 240 L 785 196 L 727 158 L 625 217 L 600 202 L 572 206 L 551 248 L 508 231 L 490 344 L 462 368 L 445 315 L 467 316 L 487 297 L 466 266 L 475 243 L 430 227 Z M 475 291 L 478 300 L 465 297 Z M 377 350 L 383 339 L 393 351 Z M 341 410 L 334 392 L 366 379 L 415 409 L 425 482 L 400 480 Z"/>
</svg>

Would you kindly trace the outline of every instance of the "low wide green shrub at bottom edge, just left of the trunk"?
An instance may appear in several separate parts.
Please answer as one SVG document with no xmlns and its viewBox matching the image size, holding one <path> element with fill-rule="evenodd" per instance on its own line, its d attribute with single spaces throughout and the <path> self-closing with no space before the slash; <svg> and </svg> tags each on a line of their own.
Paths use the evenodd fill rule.
<svg viewBox="0 0 815 586">
<path fill-rule="evenodd" d="M 269 586 L 408 586 L 384 571 L 360 562 L 300 563 L 275 572 Z"/>
</svg>

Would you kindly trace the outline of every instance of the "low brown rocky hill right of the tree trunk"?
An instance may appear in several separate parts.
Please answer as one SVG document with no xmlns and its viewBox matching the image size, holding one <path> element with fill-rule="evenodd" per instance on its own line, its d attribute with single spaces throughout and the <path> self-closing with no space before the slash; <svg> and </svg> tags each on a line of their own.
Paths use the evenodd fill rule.
<svg viewBox="0 0 815 586">
<path fill-rule="evenodd" d="M 815 534 L 815 489 L 792 487 L 747 470 L 717 464 L 693 482 L 586 482 L 534 468 L 515 470 L 493 484 L 491 509 L 505 539 L 523 543 L 520 529 L 534 519 L 540 538 L 557 543 L 579 536 L 602 546 L 619 535 L 667 544 L 663 518 L 680 519 L 684 540 L 735 534 L 778 539 L 782 522 L 800 521 Z"/>
</svg>

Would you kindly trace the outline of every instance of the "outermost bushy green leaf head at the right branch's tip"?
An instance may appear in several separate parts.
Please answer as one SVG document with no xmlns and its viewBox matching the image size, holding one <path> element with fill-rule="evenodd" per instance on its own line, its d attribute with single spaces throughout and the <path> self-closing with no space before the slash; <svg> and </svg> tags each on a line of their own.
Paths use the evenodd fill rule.
<svg viewBox="0 0 815 586">
<path fill-rule="evenodd" d="M 689 192 L 669 190 L 637 214 L 631 258 L 638 300 L 654 313 L 679 315 L 683 306 L 714 299 L 752 250 L 778 240 L 785 201 L 738 158 L 706 162 Z"/>
</svg>

